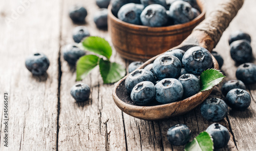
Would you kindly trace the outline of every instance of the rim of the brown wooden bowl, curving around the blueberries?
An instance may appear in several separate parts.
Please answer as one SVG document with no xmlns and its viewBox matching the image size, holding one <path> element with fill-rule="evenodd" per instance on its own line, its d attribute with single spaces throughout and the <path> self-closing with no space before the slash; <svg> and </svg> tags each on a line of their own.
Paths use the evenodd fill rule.
<svg viewBox="0 0 256 151">
<path fill-rule="evenodd" d="M 164 26 L 164 27 L 150 27 L 150 26 L 143 26 L 143 25 L 135 25 L 135 24 L 130 24 L 126 23 L 120 19 L 118 19 L 111 11 L 112 5 L 110 4 L 108 7 L 108 17 L 111 18 L 111 20 L 116 21 L 117 23 L 127 27 L 127 28 L 133 28 L 136 30 L 148 30 L 148 31 L 168 31 L 168 30 L 181 30 L 183 28 L 187 28 L 190 25 L 198 24 L 198 21 L 200 21 L 206 13 L 205 6 L 203 3 L 203 0 L 197 0 L 198 6 L 200 8 L 200 15 L 194 18 L 193 20 L 188 21 L 187 23 L 184 24 L 177 24 L 177 25 L 170 25 L 170 26 Z"/>
</svg>

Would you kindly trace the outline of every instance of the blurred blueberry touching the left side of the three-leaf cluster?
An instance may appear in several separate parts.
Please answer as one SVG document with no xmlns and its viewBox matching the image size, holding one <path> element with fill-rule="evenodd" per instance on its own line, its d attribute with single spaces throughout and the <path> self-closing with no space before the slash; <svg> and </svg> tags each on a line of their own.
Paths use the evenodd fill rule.
<svg viewBox="0 0 256 151">
<path fill-rule="evenodd" d="M 76 64 L 76 61 L 86 54 L 84 50 L 77 47 L 76 44 L 69 44 L 63 47 L 63 58 L 72 66 Z"/>
</svg>

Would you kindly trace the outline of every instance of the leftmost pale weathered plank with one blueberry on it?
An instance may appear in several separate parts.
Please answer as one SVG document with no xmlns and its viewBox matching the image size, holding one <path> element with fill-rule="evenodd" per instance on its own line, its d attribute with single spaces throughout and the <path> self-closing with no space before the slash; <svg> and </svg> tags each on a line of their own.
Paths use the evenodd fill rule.
<svg viewBox="0 0 256 151">
<path fill-rule="evenodd" d="M 2 131 L 0 150 L 56 149 L 59 9 L 59 1 L 1 2 L 1 98 L 5 91 L 10 95 L 9 146 Z M 48 56 L 48 75 L 32 76 L 26 69 L 25 58 L 35 52 Z"/>
</svg>

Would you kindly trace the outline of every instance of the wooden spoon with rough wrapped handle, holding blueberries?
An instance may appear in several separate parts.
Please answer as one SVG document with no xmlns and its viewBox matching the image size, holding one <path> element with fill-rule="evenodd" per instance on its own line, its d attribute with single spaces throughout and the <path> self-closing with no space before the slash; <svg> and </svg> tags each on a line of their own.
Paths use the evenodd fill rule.
<svg viewBox="0 0 256 151">
<path fill-rule="evenodd" d="M 243 3 L 244 0 L 223 1 L 179 46 L 172 49 L 182 49 L 186 51 L 193 46 L 201 46 L 211 52 L 218 44 L 222 33 L 228 27 L 230 21 L 237 15 Z M 143 69 L 147 64 L 152 63 L 159 55 L 147 60 L 138 69 Z M 218 62 L 213 56 L 212 58 L 214 59 L 214 68 L 219 69 Z M 127 76 L 118 81 L 114 87 L 112 94 L 113 99 L 119 109 L 124 113 L 144 120 L 159 120 L 184 114 L 201 104 L 212 91 L 211 89 L 199 92 L 178 102 L 154 104 L 153 106 L 138 106 L 133 103 L 130 94 L 126 92 L 124 86 L 126 77 Z"/>
</svg>

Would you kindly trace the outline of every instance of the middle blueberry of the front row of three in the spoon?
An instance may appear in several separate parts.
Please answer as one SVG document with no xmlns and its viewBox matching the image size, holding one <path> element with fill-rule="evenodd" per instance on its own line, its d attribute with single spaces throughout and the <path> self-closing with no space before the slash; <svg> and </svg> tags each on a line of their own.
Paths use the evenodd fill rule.
<svg viewBox="0 0 256 151">
<path fill-rule="evenodd" d="M 156 100 L 162 104 L 181 100 L 183 95 L 182 84 L 174 78 L 166 78 L 156 85 Z"/>
</svg>

